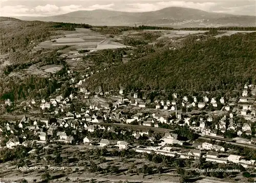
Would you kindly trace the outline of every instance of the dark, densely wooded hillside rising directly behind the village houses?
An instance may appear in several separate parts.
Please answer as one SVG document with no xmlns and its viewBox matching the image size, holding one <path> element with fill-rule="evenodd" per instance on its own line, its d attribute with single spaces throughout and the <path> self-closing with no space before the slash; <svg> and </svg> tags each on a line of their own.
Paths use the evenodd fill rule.
<svg viewBox="0 0 256 183">
<path fill-rule="evenodd" d="M 256 84 L 256 33 L 206 41 L 186 40 L 186 46 L 163 50 L 90 77 L 91 89 L 184 89 L 215 91 Z"/>
</svg>

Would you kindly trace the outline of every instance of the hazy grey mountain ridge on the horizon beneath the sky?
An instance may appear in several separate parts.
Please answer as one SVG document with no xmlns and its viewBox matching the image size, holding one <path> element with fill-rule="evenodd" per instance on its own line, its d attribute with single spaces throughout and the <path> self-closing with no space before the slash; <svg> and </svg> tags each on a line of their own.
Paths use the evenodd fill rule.
<svg viewBox="0 0 256 183">
<path fill-rule="evenodd" d="M 109 10 L 75 11 L 49 17 L 17 17 L 22 20 L 88 23 L 92 25 L 155 25 L 173 27 L 220 27 L 256 25 L 255 16 L 209 13 L 197 9 L 169 7 L 152 12 Z"/>
</svg>

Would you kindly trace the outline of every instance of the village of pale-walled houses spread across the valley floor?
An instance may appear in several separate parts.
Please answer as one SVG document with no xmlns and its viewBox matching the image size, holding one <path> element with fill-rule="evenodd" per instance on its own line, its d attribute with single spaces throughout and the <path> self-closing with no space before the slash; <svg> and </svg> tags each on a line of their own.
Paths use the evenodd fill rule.
<svg viewBox="0 0 256 183">
<path fill-rule="evenodd" d="M 15 117 L 15 120 L 2 122 L 1 148 L 62 142 L 178 155 L 180 159 L 201 157 L 209 162 L 233 162 L 256 169 L 255 159 L 217 145 L 230 143 L 256 149 L 256 88 L 253 85 L 245 85 L 241 96 L 228 100 L 207 95 L 199 100 L 196 96 L 174 93 L 171 101 L 150 101 L 141 97 L 139 91 L 124 95 L 123 88 L 119 92 L 102 92 L 99 87 L 98 92 L 91 93 L 82 87 L 85 79 L 74 81 L 71 86 L 77 88 L 77 93 L 66 98 L 58 95 L 32 99 L 25 104 L 26 114 L 22 119 Z M 78 100 L 84 101 L 81 108 L 74 107 Z M 2 106 L 11 107 L 12 101 L 8 99 Z M 28 112 L 32 109 L 40 110 L 41 116 L 47 117 L 32 116 Z M 181 132 L 177 126 L 187 130 L 187 134 L 174 133 Z M 187 146 L 189 149 L 182 148 Z"/>
</svg>

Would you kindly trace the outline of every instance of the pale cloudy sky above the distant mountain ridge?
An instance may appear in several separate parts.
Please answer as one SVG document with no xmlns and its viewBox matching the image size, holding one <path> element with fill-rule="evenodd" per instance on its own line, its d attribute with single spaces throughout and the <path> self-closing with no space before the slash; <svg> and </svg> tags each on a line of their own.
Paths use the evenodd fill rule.
<svg viewBox="0 0 256 183">
<path fill-rule="evenodd" d="M 0 16 L 53 16 L 79 10 L 113 10 L 124 12 L 156 11 L 166 7 L 184 7 L 208 12 L 256 16 L 255 0 L 0 0 Z"/>
</svg>

